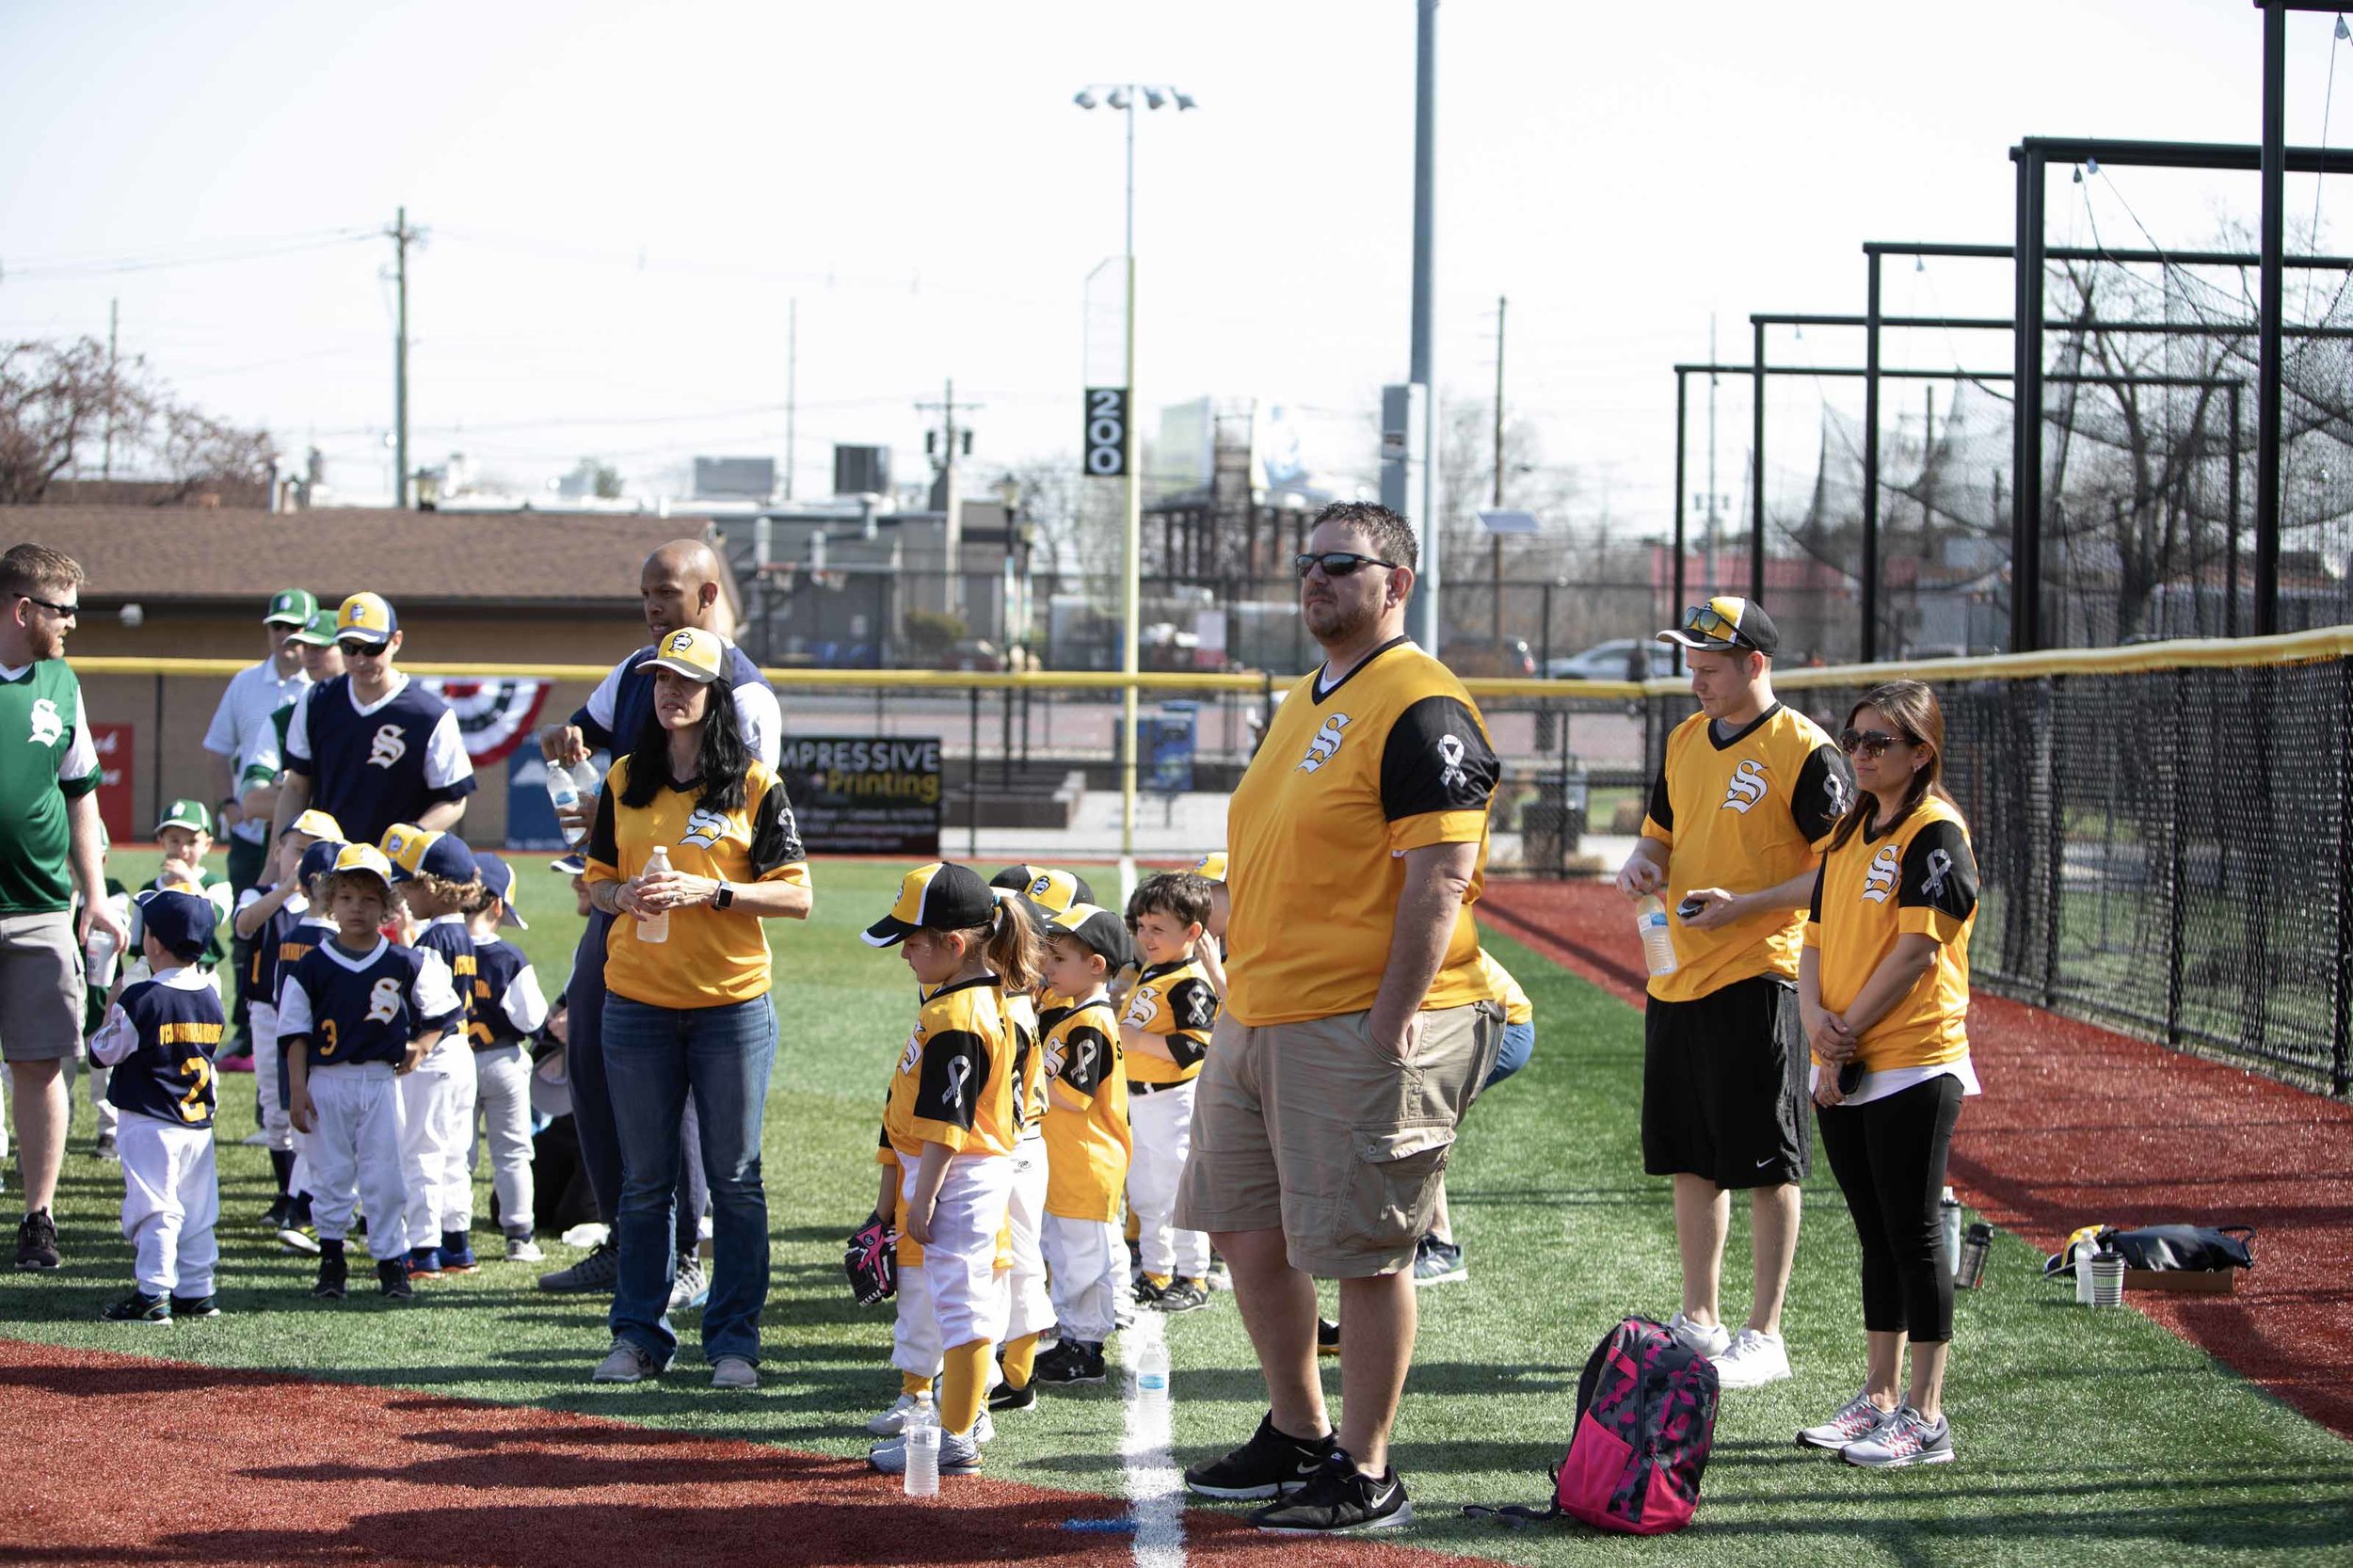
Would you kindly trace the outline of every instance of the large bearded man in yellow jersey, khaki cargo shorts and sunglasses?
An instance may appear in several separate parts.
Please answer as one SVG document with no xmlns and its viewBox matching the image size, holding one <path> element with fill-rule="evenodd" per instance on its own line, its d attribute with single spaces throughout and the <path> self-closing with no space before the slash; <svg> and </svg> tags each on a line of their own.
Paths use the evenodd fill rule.
<svg viewBox="0 0 2353 1568">
<path fill-rule="evenodd" d="M 1402 1526 L 1388 1429 L 1414 1351 L 1414 1248 L 1454 1123 L 1504 1041 L 1471 904 L 1497 758 L 1461 683 L 1405 638 L 1414 534 L 1325 506 L 1297 558 L 1322 645 L 1233 791 L 1224 1012 L 1193 1104 L 1176 1224 L 1233 1269 L 1271 1410 L 1193 1464 L 1266 1530 Z M 1315 1276 L 1339 1281 L 1341 1429 L 1315 1377 Z"/>
</svg>

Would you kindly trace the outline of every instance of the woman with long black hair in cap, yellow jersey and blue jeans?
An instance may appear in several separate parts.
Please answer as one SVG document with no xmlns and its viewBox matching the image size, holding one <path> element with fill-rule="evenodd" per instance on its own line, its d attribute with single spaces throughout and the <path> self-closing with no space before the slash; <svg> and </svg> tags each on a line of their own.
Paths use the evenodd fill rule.
<svg viewBox="0 0 2353 1568">
<path fill-rule="evenodd" d="M 654 711 L 605 775 L 588 836 L 588 897 L 605 946 L 605 1076 L 621 1144 L 621 1264 L 598 1382 L 638 1382 L 678 1349 L 664 1311 L 687 1090 L 711 1180 L 711 1384 L 760 1382 L 767 1191 L 760 1125 L 776 1059 L 762 921 L 809 913 L 809 866 L 776 772 L 713 697 L 727 645 L 673 631 L 654 655 Z M 664 869 L 656 852 L 668 859 Z M 659 935 L 656 935 L 659 932 Z"/>
</svg>

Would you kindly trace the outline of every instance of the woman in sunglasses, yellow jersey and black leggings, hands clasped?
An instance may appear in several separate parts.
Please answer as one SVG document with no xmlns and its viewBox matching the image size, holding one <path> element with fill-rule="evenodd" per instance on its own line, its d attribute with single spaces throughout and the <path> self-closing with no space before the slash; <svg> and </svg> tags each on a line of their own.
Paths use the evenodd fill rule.
<svg viewBox="0 0 2353 1568">
<path fill-rule="evenodd" d="M 1821 1149 L 1864 1248 L 1868 1377 L 1798 1441 L 1849 1464 L 1944 1464 L 1953 1264 L 1937 1198 L 1960 1102 L 1977 1092 L 1967 1034 L 1977 857 L 1937 782 L 1934 692 L 1918 680 L 1871 690 L 1838 744 L 1854 760 L 1859 805 L 1814 881 L 1798 1012 L 1814 1045 Z"/>
</svg>

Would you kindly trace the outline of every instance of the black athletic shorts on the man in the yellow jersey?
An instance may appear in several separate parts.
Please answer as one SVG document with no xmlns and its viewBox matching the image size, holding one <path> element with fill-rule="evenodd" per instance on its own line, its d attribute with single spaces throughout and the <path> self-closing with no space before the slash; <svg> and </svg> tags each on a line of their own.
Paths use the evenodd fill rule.
<svg viewBox="0 0 2353 1568">
<path fill-rule="evenodd" d="M 1753 975 L 1642 1010 L 1642 1170 L 1774 1187 L 1812 1170 L 1798 986 Z"/>
</svg>

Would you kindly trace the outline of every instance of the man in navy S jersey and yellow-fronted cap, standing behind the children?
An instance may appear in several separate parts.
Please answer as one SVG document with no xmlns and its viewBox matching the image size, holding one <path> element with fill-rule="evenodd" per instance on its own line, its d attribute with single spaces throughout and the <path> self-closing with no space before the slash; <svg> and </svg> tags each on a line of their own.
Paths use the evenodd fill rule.
<svg viewBox="0 0 2353 1568">
<path fill-rule="evenodd" d="M 400 619 L 384 596 L 346 598 L 334 645 L 346 673 L 306 690 L 287 720 L 271 843 L 311 805 L 351 843 L 376 843 L 395 822 L 454 829 L 475 791 L 473 758 L 449 704 L 393 669 Z"/>
</svg>

